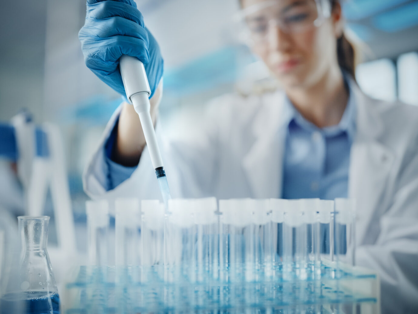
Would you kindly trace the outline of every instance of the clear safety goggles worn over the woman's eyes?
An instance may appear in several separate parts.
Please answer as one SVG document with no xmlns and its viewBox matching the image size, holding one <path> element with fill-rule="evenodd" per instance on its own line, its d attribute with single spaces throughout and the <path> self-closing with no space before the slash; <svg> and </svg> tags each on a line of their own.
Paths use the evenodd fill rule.
<svg viewBox="0 0 418 314">
<path fill-rule="evenodd" d="M 330 0 L 266 0 L 241 10 L 234 21 L 240 37 L 258 44 L 268 41 L 270 31 L 302 33 L 319 27 L 331 16 Z"/>
</svg>

